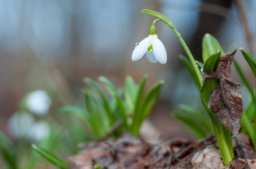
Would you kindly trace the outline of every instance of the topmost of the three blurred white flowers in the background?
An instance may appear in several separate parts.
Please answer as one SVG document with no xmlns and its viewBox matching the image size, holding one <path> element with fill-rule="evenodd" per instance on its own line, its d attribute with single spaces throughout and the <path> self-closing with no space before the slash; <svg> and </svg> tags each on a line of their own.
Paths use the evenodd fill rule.
<svg viewBox="0 0 256 169">
<path fill-rule="evenodd" d="M 27 97 L 27 108 L 35 114 L 48 113 L 51 105 L 52 100 L 44 90 L 33 91 Z"/>
</svg>

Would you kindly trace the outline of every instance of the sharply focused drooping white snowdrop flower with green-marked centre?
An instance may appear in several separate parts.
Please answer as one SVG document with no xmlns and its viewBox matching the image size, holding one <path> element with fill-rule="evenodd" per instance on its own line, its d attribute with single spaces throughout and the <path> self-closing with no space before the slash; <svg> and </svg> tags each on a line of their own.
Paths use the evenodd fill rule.
<svg viewBox="0 0 256 169">
<path fill-rule="evenodd" d="M 131 60 L 137 61 L 145 53 L 151 63 L 157 63 L 157 61 L 161 64 L 167 63 L 167 51 L 165 50 L 164 44 L 157 38 L 156 27 L 154 25 L 150 27 L 150 35 L 139 42 L 139 44 L 136 44 Z"/>
</svg>

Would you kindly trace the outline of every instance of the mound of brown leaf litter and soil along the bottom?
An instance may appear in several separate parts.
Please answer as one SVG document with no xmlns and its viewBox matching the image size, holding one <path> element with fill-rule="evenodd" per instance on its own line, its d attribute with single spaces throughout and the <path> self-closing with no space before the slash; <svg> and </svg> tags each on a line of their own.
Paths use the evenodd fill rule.
<svg viewBox="0 0 256 169">
<path fill-rule="evenodd" d="M 172 139 L 160 144 L 147 143 L 129 134 L 118 139 L 80 144 L 80 153 L 68 159 L 72 168 L 256 168 L 256 154 L 247 135 L 233 139 L 235 158 L 224 166 L 216 139 Z"/>
</svg>

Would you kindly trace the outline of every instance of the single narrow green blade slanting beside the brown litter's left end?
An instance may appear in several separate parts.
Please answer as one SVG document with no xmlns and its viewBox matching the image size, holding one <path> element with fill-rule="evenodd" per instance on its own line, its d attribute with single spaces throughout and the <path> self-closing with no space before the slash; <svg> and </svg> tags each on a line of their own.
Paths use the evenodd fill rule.
<svg viewBox="0 0 256 169">
<path fill-rule="evenodd" d="M 39 153 L 42 157 L 44 157 L 45 159 L 47 159 L 47 161 L 49 161 L 50 163 L 58 166 L 59 168 L 62 169 L 69 169 L 69 166 L 67 166 L 67 164 L 65 162 L 63 162 L 61 159 L 59 159 L 56 155 L 48 152 L 47 150 L 41 148 L 38 145 L 32 144 L 32 148 Z"/>
</svg>

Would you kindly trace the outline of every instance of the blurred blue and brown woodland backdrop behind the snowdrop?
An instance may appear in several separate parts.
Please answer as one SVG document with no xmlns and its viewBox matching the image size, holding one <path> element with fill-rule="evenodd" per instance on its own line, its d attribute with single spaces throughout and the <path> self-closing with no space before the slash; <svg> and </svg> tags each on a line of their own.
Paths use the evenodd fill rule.
<svg viewBox="0 0 256 169">
<path fill-rule="evenodd" d="M 10 118 L 28 92 L 40 90 L 49 96 L 49 109 L 33 114 L 33 121 L 56 121 L 63 131 L 66 126 L 62 122 L 69 117 L 61 117 L 56 111 L 63 105 L 84 105 L 80 91 L 84 77 L 97 80 L 104 75 L 121 87 L 126 75 L 139 82 L 147 73 L 147 86 L 165 81 L 148 117 L 151 126 L 162 140 L 193 138 L 171 115 L 180 103 L 200 109 L 200 100 L 193 79 L 178 58 L 186 53 L 169 26 L 161 21 L 155 24 L 167 49 L 167 64 L 152 64 L 146 57 L 131 60 L 135 44 L 148 36 L 155 20 L 140 13 L 144 8 L 169 17 L 199 61 L 205 33 L 214 35 L 224 51 L 234 44 L 237 50 L 242 47 L 252 55 L 256 52 L 256 1 L 0 0 L 0 130 L 15 140 Z M 236 58 L 252 75 L 239 50 Z M 240 82 L 235 71 L 232 75 Z M 255 79 L 251 82 L 255 84 Z M 242 95 L 246 99 L 246 91 L 242 90 Z M 77 126 L 74 132 L 83 127 Z M 86 140 L 86 136 L 77 137 L 77 141 Z"/>
</svg>

